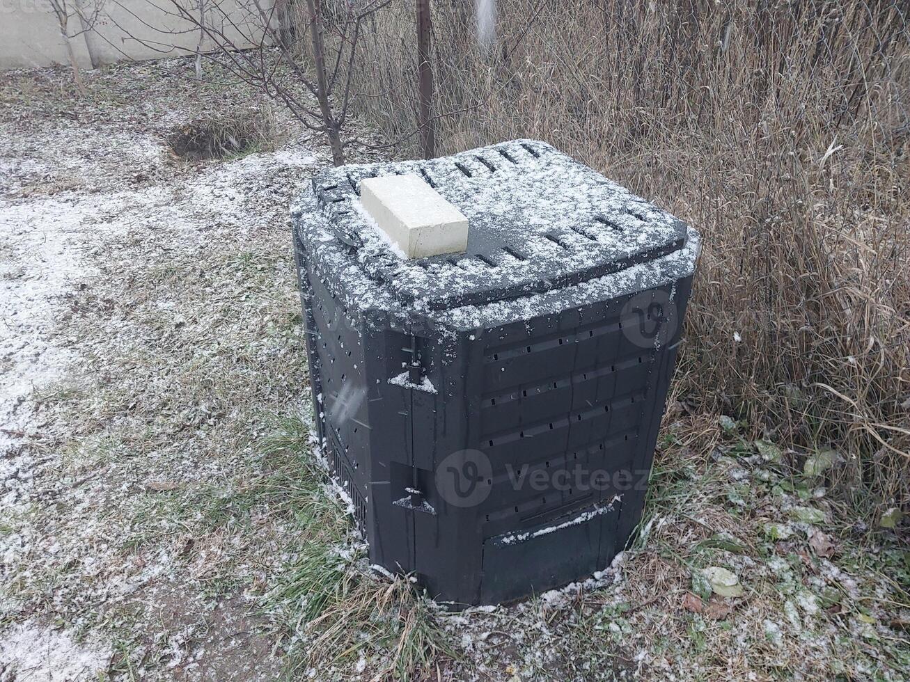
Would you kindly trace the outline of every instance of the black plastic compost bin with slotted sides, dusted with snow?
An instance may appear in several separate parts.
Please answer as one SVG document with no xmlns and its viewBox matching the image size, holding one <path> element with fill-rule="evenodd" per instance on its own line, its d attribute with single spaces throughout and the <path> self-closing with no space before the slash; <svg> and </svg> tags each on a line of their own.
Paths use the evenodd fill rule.
<svg viewBox="0 0 910 682">
<path fill-rule="evenodd" d="M 359 203 L 423 177 L 469 220 L 408 260 Z M 370 558 L 488 604 L 607 566 L 642 514 L 699 236 L 531 140 L 347 165 L 292 206 L 322 447 Z"/>
</svg>

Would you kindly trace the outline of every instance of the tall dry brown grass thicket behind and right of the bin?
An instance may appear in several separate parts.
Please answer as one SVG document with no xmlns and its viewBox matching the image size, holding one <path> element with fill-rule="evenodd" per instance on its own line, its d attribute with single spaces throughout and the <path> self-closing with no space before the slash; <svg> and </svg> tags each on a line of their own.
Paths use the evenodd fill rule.
<svg viewBox="0 0 910 682">
<path fill-rule="evenodd" d="M 411 5 L 355 79 L 389 139 L 415 125 Z M 697 226 L 677 396 L 834 444 L 855 508 L 910 504 L 907 5 L 501 0 L 488 54 L 468 5 L 434 3 L 437 153 L 538 137 Z"/>
</svg>

